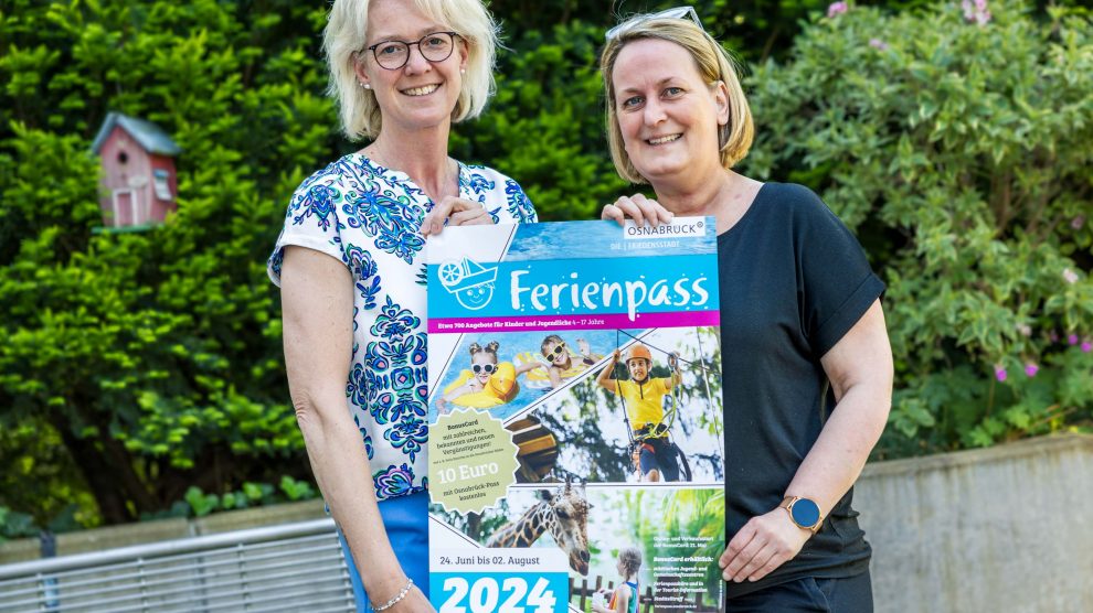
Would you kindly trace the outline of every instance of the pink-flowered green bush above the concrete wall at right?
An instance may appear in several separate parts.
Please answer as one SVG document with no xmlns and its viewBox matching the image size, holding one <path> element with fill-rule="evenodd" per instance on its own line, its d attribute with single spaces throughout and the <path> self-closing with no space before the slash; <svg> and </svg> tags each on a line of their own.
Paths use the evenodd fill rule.
<svg viewBox="0 0 1093 613">
<path fill-rule="evenodd" d="M 750 82 L 750 171 L 817 189 L 888 282 L 881 455 L 1090 428 L 1093 28 L 1049 17 L 851 7 Z"/>
</svg>

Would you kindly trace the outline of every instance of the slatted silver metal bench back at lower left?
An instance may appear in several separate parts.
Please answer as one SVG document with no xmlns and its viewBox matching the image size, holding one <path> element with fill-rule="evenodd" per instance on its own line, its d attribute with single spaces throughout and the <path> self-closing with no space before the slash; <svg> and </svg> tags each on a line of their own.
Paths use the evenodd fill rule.
<svg viewBox="0 0 1093 613">
<path fill-rule="evenodd" d="M 0 566 L 0 611 L 353 612 L 330 518 Z"/>
</svg>

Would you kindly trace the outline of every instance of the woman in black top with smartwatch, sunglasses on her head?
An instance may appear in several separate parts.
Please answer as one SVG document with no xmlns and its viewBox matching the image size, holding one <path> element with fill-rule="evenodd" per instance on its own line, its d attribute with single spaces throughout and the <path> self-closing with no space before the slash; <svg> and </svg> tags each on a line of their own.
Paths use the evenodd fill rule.
<svg viewBox="0 0 1093 613">
<path fill-rule="evenodd" d="M 615 168 L 656 192 L 603 218 L 717 221 L 728 611 L 871 611 L 851 486 L 891 405 L 884 286 L 816 194 L 732 170 L 751 112 L 692 9 L 613 29 L 601 68 Z"/>
</svg>

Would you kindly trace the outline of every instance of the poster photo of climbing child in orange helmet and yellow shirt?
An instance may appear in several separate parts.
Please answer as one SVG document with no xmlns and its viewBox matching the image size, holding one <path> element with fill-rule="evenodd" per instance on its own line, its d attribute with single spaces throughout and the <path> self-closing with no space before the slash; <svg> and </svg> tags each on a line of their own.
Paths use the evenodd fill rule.
<svg viewBox="0 0 1093 613">
<path fill-rule="evenodd" d="M 507 424 L 518 481 L 722 482 L 718 329 L 617 335 L 595 368 Z"/>
</svg>

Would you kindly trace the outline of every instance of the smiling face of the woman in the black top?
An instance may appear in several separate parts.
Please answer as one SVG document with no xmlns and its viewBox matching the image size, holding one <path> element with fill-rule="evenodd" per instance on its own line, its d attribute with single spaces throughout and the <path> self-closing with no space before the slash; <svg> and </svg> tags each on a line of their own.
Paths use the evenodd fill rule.
<svg viewBox="0 0 1093 613">
<path fill-rule="evenodd" d="M 710 85 L 682 46 L 659 39 L 628 43 L 612 74 L 623 144 L 650 183 L 721 168 L 718 130 L 729 121 L 724 84 Z"/>
</svg>

